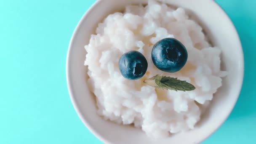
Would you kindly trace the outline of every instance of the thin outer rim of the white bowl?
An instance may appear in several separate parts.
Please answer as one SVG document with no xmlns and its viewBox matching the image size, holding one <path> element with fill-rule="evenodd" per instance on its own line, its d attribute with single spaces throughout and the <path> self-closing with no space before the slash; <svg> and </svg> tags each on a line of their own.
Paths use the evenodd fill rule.
<svg viewBox="0 0 256 144">
<path fill-rule="evenodd" d="M 67 51 L 67 59 L 66 59 L 66 79 L 67 79 L 67 88 L 68 88 L 68 91 L 69 91 L 69 96 L 70 96 L 70 99 L 72 101 L 72 104 L 75 108 L 75 111 L 77 112 L 77 115 L 79 116 L 79 118 L 82 120 L 83 124 L 89 129 L 89 131 L 91 131 L 91 133 L 93 133 L 94 136 L 96 136 L 100 141 L 106 143 L 106 144 L 111 144 L 111 142 L 107 139 L 105 139 L 103 136 L 101 136 L 101 134 L 99 134 L 98 132 L 96 132 L 94 130 L 93 127 L 91 127 L 91 125 L 88 124 L 87 120 L 82 116 L 82 113 L 80 111 L 80 109 L 78 108 L 77 106 L 77 102 L 75 101 L 75 97 L 74 97 L 74 91 L 72 89 L 72 83 L 71 83 L 71 80 L 70 80 L 70 61 L 69 61 L 69 58 L 70 58 L 70 53 L 71 53 L 71 48 L 72 48 L 72 45 L 73 45 L 73 42 L 74 42 L 74 39 L 75 39 L 75 35 L 77 35 L 77 32 L 78 30 L 80 29 L 81 25 L 82 25 L 82 21 L 83 19 L 85 19 L 88 15 L 88 13 L 90 13 L 93 8 L 98 5 L 99 3 L 103 2 L 104 0 L 96 0 L 95 3 L 93 3 L 93 5 L 91 5 L 91 7 L 83 14 L 82 18 L 79 20 L 77 26 L 75 27 L 75 30 L 72 34 L 72 37 L 71 37 L 71 40 L 69 42 L 69 47 L 68 47 L 68 51 Z M 235 37 L 237 37 L 237 39 L 239 40 L 238 43 L 239 43 L 239 47 L 240 47 L 240 52 L 241 52 L 241 58 L 242 58 L 242 62 L 241 62 L 241 70 L 240 70 L 240 74 L 241 76 L 239 77 L 239 79 L 237 80 L 238 82 L 240 82 L 240 85 L 237 89 L 237 96 L 235 97 L 235 103 L 232 104 L 232 109 L 229 111 L 229 113 L 227 114 L 226 117 L 224 117 L 224 119 L 221 121 L 221 123 L 219 123 L 219 125 L 213 129 L 213 131 L 210 131 L 209 134 L 207 136 L 205 136 L 203 139 L 200 140 L 200 142 L 202 141 L 205 141 L 205 139 L 207 139 L 209 136 L 211 136 L 217 129 L 220 128 L 220 126 L 227 120 L 227 118 L 229 117 L 230 113 L 232 112 L 232 110 L 234 109 L 235 107 L 235 104 L 237 103 L 237 99 L 240 95 L 240 91 L 242 89 L 242 85 L 243 85 L 243 77 L 244 77 L 244 54 L 243 54 L 243 47 L 242 47 L 242 44 L 241 44 L 241 40 L 240 40 L 240 37 L 238 35 L 238 32 L 237 32 L 237 29 L 235 28 L 235 25 L 233 24 L 232 20 L 230 19 L 230 17 L 227 15 L 227 13 L 221 8 L 221 6 L 216 3 L 215 0 L 211 0 L 213 2 L 213 4 L 217 5 L 218 8 L 219 8 L 219 11 L 221 11 L 223 13 L 224 16 L 226 16 L 227 20 L 229 21 L 229 23 L 231 24 L 230 27 L 232 27 L 234 30 L 235 30 Z"/>
</svg>

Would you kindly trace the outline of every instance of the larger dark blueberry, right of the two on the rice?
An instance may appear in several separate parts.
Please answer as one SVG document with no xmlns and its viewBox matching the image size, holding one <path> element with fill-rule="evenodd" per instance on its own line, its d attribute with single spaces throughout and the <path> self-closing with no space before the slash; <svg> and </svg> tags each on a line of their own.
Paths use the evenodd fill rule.
<svg viewBox="0 0 256 144">
<path fill-rule="evenodd" d="M 187 50 L 175 38 L 164 38 L 158 41 L 151 54 L 155 66 L 164 72 L 177 72 L 187 62 Z"/>
</svg>

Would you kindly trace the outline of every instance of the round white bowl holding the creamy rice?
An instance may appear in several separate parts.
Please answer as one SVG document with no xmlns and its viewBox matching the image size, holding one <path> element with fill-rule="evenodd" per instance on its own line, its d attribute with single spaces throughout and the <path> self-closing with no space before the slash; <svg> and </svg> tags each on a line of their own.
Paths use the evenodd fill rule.
<svg viewBox="0 0 256 144">
<path fill-rule="evenodd" d="M 117 125 L 96 114 L 95 98 L 88 91 L 87 68 L 84 66 L 84 45 L 99 22 L 109 13 L 122 11 L 127 4 L 147 3 L 147 0 L 98 0 L 83 16 L 70 41 L 67 54 L 67 84 L 74 107 L 87 128 L 104 143 L 111 144 L 195 144 L 210 136 L 232 111 L 243 82 L 243 50 L 237 31 L 227 14 L 213 0 L 165 0 L 183 7 L 204 28 L 213 45 L 222 49 L 221 68 L 228 72 L 223 86 L 214 95 L 208 111 L 197 127 L 153 140 L 140 129 Z"/>
</svg>

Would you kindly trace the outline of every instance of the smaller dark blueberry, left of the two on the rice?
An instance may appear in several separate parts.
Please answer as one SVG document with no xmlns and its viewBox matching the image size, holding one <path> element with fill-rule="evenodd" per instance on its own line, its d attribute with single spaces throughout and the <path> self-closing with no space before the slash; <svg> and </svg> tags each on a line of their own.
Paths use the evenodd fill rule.
<svg viewBox="0 0 256 144">
<path fill-rule="evenodd" d="M 147 71 L 147 59 L 138 51 L 124 53 L 118 65 L 123 77 L 130 80 L 143 77 Z"/>
</svg>

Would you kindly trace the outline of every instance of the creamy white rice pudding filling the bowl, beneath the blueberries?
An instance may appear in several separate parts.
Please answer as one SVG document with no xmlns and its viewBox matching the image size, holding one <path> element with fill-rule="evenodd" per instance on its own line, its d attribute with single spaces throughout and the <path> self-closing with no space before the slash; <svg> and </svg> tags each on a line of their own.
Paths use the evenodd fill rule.
<svg viewBox="0 0 256 144">
<path fill-rule="evenodd" d="M 179 72 L 163 72 L 152 62 L 153 45 L 166 37 L 178 39 L 187 48 L 188 61 Z M 107 16 L 85 49 L 88 84 L 99 115 L 119 124 L 133 124 L 154 138 L 193 129 L 221 86 L 221 77 L 227 75 L 220 70 L 221 50 L 209 45 L 197 22 L 184 9 L 153 0 L 146 7 L 128 5 L 124 13 Z M 132 50 L 148 61 L 147 72 L 139 80 L 125 79 L 118 68 L 122 54 Z M 196 89 L 167 91 L 143 83 L 156 74 L 187 80 Z"/>
</svg>

